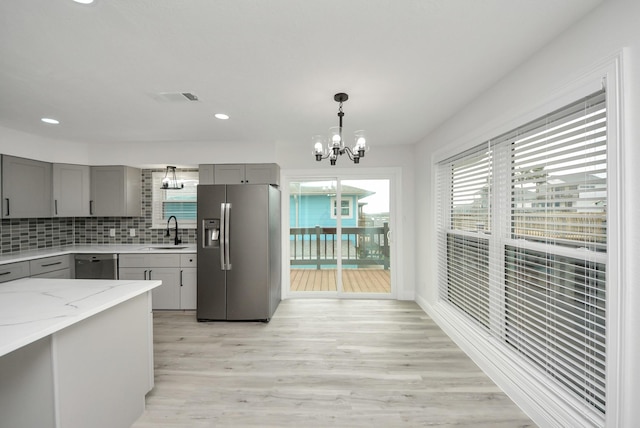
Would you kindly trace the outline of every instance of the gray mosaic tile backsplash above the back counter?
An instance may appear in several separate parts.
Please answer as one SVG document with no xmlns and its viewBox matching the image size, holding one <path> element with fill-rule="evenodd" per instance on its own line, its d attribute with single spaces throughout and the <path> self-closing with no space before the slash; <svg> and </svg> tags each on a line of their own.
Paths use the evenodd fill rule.
<svg viewBox="0 0 640 428">
<path fill-rule="evenodd" d="M 141 217 L 4 219 L 0 224 L 0 252 L 6 254 L 70 244 L 173 244 L 173 228 L 170 237 L 165 236 L 164 229 L 151 229 L 153 171 L 161 170 L 142 170 Z M 109 236 L 110 229 L 115 229 L 116 236 Z M 136 236 L 129 235 L 130 229 L 135 229 Z M 181 228 L 178 236 L 183 244 L 196 243 L 194 229 Z"/>
</svg>

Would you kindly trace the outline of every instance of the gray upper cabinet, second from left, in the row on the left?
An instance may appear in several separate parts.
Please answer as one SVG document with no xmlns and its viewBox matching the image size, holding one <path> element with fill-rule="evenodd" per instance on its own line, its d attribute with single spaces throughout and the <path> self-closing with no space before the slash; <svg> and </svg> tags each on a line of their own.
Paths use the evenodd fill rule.
<svg viewBox="0 0 640 428">
<path fill-rule="evenodd" d="M 89 215 L 90 168 L 86 165 L 53 164 L 54 217 Z"/>
</svg>

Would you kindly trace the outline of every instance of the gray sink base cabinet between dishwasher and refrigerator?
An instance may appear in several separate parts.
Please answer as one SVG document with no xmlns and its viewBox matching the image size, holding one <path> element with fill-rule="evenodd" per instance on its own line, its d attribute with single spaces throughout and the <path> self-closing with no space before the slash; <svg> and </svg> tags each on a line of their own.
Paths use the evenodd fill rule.
<svg viewBox="0 0 640 428">
<path fill-rule="evenodd" d="M 195 254 L 120 254 L 119 266 L 119 279 L 162 281 L 152 292 L 153 309 L 196 308 Z"/>
</svg>

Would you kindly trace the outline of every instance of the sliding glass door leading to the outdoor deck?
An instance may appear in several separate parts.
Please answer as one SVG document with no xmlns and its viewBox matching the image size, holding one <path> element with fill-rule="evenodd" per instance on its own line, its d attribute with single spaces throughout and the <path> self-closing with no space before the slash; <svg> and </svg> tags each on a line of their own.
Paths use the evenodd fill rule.
<svg viewBox="0 0 640 428">
<path fill-rule="evenodd" d="M 289 183 L 292 294 L 391 295 L 390 180 Z"/>
</svg>

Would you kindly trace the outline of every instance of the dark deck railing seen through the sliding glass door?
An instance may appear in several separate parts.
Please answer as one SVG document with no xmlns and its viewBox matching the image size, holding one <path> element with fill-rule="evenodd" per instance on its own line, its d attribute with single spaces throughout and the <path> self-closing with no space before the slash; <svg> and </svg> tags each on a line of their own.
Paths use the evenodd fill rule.
<svg viewBox="0 0 640 428">
<path fill-rule="evenodd" d="M 389 269 L 389 223 L 382 227 L 343 227 L 340 238 L 335 227 L 290 228 L 291 265 L 336 265 L 338 245 L 342 265 L 380 265 Z"/>
</svg>

